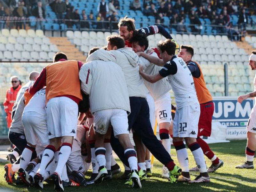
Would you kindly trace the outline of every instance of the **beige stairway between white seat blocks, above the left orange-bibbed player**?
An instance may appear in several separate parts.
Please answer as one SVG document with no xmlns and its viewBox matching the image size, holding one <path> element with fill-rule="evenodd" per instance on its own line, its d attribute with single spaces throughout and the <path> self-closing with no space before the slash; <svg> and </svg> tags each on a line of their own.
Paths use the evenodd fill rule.
<svg viewBox="0 0 256 192">
<path fill-rule="evenodd" d="M 55 44 L 61 52 L 67 54 L 69 60 L 80 60 L 85 62 L 86 56 L 80 52 L 67 37 L 49 37 L 52 44 Z"/>
</svg>

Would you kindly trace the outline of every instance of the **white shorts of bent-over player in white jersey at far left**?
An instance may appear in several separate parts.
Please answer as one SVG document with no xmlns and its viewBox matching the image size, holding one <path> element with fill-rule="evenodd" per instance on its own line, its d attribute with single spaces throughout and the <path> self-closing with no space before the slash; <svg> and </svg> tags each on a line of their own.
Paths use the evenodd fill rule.
<svg viewBox="0 0 256 192">
<path fill-rule="evenodd" d="M 28 143 L 36 145 L 36 139 L 38 139 L 43 146 L 50 143 L 45 116 L 37 114 L 34 111 L 23 113 L 22 124 Z"/>
</svg>

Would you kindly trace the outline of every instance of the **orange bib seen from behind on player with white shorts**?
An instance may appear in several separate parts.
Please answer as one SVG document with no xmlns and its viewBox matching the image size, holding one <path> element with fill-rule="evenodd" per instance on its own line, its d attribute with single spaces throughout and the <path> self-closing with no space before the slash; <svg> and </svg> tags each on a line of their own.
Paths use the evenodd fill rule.
<svg viewBox="0 0 256 192">
<path fill-rule="evenodd" d="M 53 97 L 71 95 L 83 100 L 77 60 L 58 61 L 46 69 L 46 102 Z"/>
</svg>

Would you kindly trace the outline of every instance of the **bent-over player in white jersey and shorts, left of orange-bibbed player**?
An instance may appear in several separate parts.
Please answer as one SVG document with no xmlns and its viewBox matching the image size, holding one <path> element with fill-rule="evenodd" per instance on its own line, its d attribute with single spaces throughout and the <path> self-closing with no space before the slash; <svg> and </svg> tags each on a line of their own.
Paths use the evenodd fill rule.
<svg viewBox="0 0 256 192">
<path fill-rule="evenodd" d="M 25 99 L 27 94 L 29 93 L 24 94 Z M 25 168 L 31 159 L 32 153 L 36 150 L 37 145 L 42 146 L 44 150 L 50 143 L 46 124 L 45 88 L 36 92 L 36 94 L 29 100 L 22 114 L 22 124 L 25 130 L 27 145 L 21 154 L 18 174 L 21 180 L 28 184 L 29 176 L 25 171 Z M 42 152 L 38 152 L 37 154 L 39 155 L 40 153 Z"/>
</svg>

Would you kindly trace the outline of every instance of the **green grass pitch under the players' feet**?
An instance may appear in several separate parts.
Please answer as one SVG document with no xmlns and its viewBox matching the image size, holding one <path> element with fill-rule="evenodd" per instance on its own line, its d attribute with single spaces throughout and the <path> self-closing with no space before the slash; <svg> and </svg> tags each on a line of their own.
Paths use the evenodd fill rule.
<svg viewBox="0 0 256 192">
<path fill-rule="evenodd" d="M 182 191 L 256 191 L 256 169 L 240 170 L 235 169 L 235 166 L 241 164 L 245 160 L 245 146 L 246 140 L 231 141 L 230 143 L 218 143 L 210 144 L 210 148 L 214 153 L 224 161 L 224 166 L 221 167 L 214 173 L 210 173 L 211 183 L 205 184 L 188 184 L 188 183 L 168 183 L 166 179 L 159 177 L 162 169 L 162 164 L 157 160 L 154 162 L 154 168 L 152 169 L 153 177 L 148 178 L 147 181 L 142 182 L 141 191 L 152 191 L 152 192 L 182 192 Z M 195 162 L 192 153 L 188 150 L 189 154 L 189 166 L 195 166 Z M 177 162 L 176 152 L 172 147 L 172 158 L 174 162 Z M 211 162 L 206 159 L 206 164 L 209 167 Z M 121 166 L 121 162 L 118 160 L 118 164 Z M 39 190 L 34 187 L 25 188 L 24 186 L 8 185 L 4 180 L 4 163 L 0 163 L 0 191 L 54 191 L 54 184 L 51 180 L 44 182 L 44 189 Z M 122 170 L 124 167 L 121 166 Z M 88 171 L 86 178 L 89 178 L 91 171 Z M 194 179 L 198 172 L 190 172 L 191 178 Z M 97 185 L 87 187 L 69 187 L 65 188 L 65 191 L 132 191 L 133 189 L 124 185 L 124 180 L 119 180 L 118 177 L 121 175 L 113 176 L 113 180 L 109 182 L 103 182 Z M 134 189 L 138 191 L 138 189 Z"/>
</svg>

